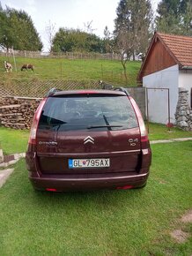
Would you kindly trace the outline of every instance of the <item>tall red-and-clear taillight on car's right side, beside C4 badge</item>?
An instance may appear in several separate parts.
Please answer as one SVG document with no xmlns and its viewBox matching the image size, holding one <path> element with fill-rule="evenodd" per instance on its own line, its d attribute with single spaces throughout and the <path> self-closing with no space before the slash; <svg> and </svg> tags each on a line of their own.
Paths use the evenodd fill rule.
<svg viewBox="0 0 192 256">
<path fill-rule="evenodd" d="M 141 111 L 137 106 L 137 103 L 135 102 L 135 100 L 129 96 L 129 100 L 133 106 L 133 109 L 135 110 L 136 116 L 137 116 L 137 121 L 138 121 L 138 125 L 139 125 L 139 129 L 140 129 L 140 133 L 141 133 L 141 147 L 142 148 L 148 148 L 149 147 L 149 139 L 148 139 L 148 134 L 147 134 L 147 130 L 145 128 L 144 125 L 144 119 L 142 117 Z"/>
</svg>

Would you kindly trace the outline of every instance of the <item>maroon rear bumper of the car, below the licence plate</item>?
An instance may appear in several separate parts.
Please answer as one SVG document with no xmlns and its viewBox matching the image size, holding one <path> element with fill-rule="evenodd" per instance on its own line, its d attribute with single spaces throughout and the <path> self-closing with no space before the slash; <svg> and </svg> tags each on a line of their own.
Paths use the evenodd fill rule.
<svg viewBox="0 0 192 256">
<path fill-rule="evenodd" d="M 145 170 L 146 171 L 146 170 Z M 53 189 L 58 192 L 92 191 L 99 189 L 116 189 L 126 186 L 128 188 L 142 187 L 146 184 L 149 172 L 141 174 L 118 173 L 105 175 L 76 175 L 76 176 L 41 176 L 29 172 L 29 179 L 37 190 Z"/>
</svg>

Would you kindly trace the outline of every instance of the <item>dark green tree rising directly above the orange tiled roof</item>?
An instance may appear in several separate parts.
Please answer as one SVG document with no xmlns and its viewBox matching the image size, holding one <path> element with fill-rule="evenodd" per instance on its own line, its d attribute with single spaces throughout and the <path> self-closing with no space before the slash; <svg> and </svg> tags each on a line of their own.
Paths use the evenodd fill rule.
<svg viewBox="0 0 192 256">
<path fill-rule="evenodd" d="M 192 0 L 162 0 L 156 27 L 163 33 L 192 35 Z"/>
</svg>

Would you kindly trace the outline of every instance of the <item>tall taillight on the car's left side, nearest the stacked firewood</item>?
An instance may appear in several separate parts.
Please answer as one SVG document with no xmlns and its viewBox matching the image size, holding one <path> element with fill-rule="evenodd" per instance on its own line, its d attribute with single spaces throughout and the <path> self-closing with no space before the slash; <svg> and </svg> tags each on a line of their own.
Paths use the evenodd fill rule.
<svg viewBox="0 0 192 256">
<path fill-rule="evenodd" d="M 28 143 L 30 143 L 30 144 L 36 144 L 37 127 L 38 127 L 38 124 L 39 124 L 42 108 L 43 108 L 46 101 L 47 101 L 47 98 L 44 98 L 41 101 L 39 107 L 37 108 L 37 110 L 34 113 L 33 124 L 32 124 L 32 127 L 31 127 L 31 131 L 30 131 L 30 135 L 29 135 L 29 141 L 28 141 Z"/>
</svg>

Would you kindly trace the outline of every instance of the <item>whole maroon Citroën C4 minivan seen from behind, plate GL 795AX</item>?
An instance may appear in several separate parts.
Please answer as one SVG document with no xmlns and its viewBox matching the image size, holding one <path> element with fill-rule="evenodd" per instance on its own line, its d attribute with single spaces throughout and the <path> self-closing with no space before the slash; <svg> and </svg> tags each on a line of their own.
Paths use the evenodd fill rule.
<svg viewBox="0 0 192 256">
<path fill-rule="evenodd" d="M 51 90 L 36 110 L 26 166 L 37 190 L 143 187 L 150 165 L 144 120 L 124 88 Z"/>
</svg>

